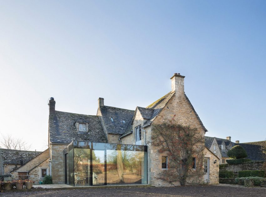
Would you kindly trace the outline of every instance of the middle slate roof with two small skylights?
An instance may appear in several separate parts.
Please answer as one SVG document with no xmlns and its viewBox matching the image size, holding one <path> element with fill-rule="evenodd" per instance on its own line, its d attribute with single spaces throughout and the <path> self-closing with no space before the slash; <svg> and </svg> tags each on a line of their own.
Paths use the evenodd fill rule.
<svg viewBox="0 0 266 197">
<path fill-rule="evenodd" d="M 132 121 L 134 110 L 121 109 L 110 106 L 100 107 L 107 132 L 110 134 L 124 134 L 130 121 Z M 113 121 L 111 120 L 113 119 Z M 125 122 L 123 122 L 123 120 Z M 131 125 L 131 124 L 130 124 Z M 132 127 L 132 126 L 131 126 Z"/>
</svg>

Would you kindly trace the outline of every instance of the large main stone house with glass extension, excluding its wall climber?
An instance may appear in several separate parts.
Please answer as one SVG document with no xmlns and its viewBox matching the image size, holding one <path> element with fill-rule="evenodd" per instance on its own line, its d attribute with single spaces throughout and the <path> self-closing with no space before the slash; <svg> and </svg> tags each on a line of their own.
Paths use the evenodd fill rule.
<svg viewBox="0 0 266 197">
<path fill-rule="evenodd" d="M 99 98 L 96 115 L 61 112 L 55 110 L 55 100 L 51 97 L 48 129 L 51 162 L 47 158 L 42 167 L 50 169 L 51 165 L 53 183 L 112 185 L 121 184 L 122 180 L 130 184 L 170 186 L 171 183 L 157 179 L 167 169 L 168 156 L 152 145 L 152 125 L 174 119 L 197 128 L 202 137 L 207 132 L 184 92 L 184 78 L 175 73 L 169 93 L 146 108 L 137 106 L 135 110 L 106 106 L 104 99 Z M 219 158 L 204 143 L 201 146 L 205 147 L 202 170 L 206 170 L 202 180 L 218 184 Z M 17 172 L 28 169 L 30 173 L 33 167 L 33 164 L 24 165 Z"/>
</svg>

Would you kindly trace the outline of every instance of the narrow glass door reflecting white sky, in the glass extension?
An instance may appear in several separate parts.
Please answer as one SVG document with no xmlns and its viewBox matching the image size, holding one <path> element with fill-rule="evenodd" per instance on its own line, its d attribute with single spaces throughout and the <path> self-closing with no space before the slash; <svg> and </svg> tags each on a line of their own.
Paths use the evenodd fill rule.
<svg viewBox="0 0 266 197">
<path fill-rule="evenodd" d="M 92 184 L 105 184 L 105 150 L 92 151 Z"/>
</svg>

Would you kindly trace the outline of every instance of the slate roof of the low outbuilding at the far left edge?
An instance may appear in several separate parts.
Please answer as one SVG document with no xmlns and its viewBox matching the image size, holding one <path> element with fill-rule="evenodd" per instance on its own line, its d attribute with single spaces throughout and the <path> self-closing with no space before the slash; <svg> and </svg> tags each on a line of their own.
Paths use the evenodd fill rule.
<svg viewBox="0 0 266 197">
<path fill-rule="evenodd" d="M 33 157 L 42 152 L 39 151 L 26 151 L 26 150 L 12 150 L 12 149 L 0 149 L 0 154 L 4 164 L 20 164 L 20 160 L 23 164 L 28 162 Z"/>
</svg>

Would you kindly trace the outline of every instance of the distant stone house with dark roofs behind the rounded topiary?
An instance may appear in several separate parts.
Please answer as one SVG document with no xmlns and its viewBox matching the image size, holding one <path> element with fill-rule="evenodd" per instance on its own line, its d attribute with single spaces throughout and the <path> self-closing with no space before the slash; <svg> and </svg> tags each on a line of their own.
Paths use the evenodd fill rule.
<svg viewBox="0 0 266 197">
<path fill-rule="evenodd" d="M 220 159 L 219 164 L 227 164 L 226 159 L 230 159 L 227 155 L 228 150 L 235 145 L 240 145 L 246 150 L 247 159 L 253 161 L 265 160 L 261 151 L 261 146 L 265 143 L 266 141 L 239 143 L 239 140 L 234 143 L 231 142 L 230 136 L 226 139 L 205 136 L 205 146 Z"/>
</svg>

